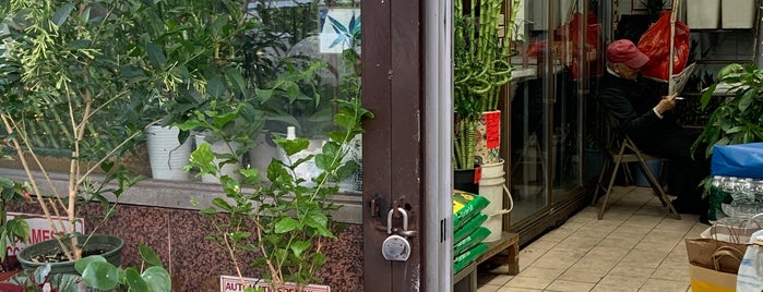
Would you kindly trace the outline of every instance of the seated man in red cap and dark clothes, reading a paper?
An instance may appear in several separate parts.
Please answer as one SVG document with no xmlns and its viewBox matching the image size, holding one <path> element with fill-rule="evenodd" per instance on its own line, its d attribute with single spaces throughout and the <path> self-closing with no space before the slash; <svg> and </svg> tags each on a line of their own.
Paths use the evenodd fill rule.
<svg viewBox="0 0 763 292">
<path fill-rule="evenodd" d="M 668 193 L 678 196 L 672 202 L 676 209 L 700 214 L 701 220 L 707 222 L 707 202 L 702 199 L 699 184 L 710 175 L 710 162 L 703 153 L 692 158 L 690 149 L 699 133 L 676 121 L 676 95 L 660 95 L 660 86 L 639 74 L 648 60 L 630 40 L 610 44 L 599 101 L 620 121 L 620 130 L 639 149 L 667 159 Z"/>
</svg>

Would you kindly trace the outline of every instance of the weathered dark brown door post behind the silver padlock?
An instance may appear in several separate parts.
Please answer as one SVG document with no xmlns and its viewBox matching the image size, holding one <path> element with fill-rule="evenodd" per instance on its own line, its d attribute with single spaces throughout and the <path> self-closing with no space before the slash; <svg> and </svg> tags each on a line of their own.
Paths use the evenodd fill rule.
<svg viewBox="0 0 763 292">
<path fill-rule="evenodd" d="M 421 289 L 422 143 L 420 1 L 362 1 L 362 97 L 375 117 L 363 135 L 363 288 L 365 291 Z M 391 208 L 408 214 L 407 261 L 381 255 L 383 228 Z M 400 215 L 397 216 L 400 217 Z M 394 219 L 401 226 L 401 219 Z"/>
</svg>

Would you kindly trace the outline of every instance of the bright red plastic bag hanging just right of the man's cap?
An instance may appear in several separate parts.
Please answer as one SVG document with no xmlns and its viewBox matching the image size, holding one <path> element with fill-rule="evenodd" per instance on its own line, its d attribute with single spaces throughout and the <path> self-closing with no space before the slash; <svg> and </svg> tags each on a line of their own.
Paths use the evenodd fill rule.
<svg viewBox="0 0 763 292">
<path fill-rule="evenodd" d="M 677 21 L 675 39 L 672 72 L 678 74 L 689 61 L 689 26 Z M 641 69 L 641 74 L 667 82 L 670 66 L 669 11 L 663 12 L 659 20 L 644 32 L 636 47 L 649 57 L 649 61 Z"/>
</svg>

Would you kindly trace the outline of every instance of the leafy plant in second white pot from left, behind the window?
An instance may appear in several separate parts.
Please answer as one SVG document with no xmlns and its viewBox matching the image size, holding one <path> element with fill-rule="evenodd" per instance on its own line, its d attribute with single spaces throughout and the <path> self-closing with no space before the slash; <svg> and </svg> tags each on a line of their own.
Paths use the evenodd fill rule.
<svg viewBox="0 0 763 292">
<path fill-rule="evenodd" d="M 163 151 L 152 156 L 156 158 L 151 159 L 152 166 L 163 169 L 156 168 L 158 171 L 154 173 L 167 173 L 168 161 L 177 161 L 179 167 L 172 167 L 172 173 L 179 172 L 177 177 L 189 179 L 182 167 L 188 163 L 191 151 L 188 138 L 192 129 L 179 130 L 177 124 L 193 118 L 193 110 L 210 108 L 213 100 L 218 104 L 246 102 L 251 93 L 247 92 L 245 69 L 240 65 L 245 61 L 241 44 L 253 23 L 245 17 L 240 3 L 231 0 L 166 0 L 147 5 L 140 13 L 154 20 L 141 27 L 150 36 L 142 39 L 141 46 L 145 50 L 146 66 L 158 72 L 155 86 L 148 87 L 151 106 L 146 106 L 146 110 L 151 111 L 148 117 L 163 118 L 159 124 L 150 129 L 148 142 L 151 144 L 153 137 L 160 137 L 157 133 L 170 132 L 164 142 L 172 143 L 156 147 Z M 241 114 L 240 118 L 249 119 L 239 124 L 246 124 L 250 130 L 236 131 L 251 133 L 262 127 L 262 122 L 254 120 L 259 114 Z"/>
</svg>

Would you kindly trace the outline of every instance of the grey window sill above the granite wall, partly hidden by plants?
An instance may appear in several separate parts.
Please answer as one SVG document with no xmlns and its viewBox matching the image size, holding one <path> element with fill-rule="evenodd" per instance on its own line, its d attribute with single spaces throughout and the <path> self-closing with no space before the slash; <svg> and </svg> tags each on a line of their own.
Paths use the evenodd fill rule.
<svg viewBox="0 0 763 292">
<path fill-rule="evenodd" d="M 0 175 L 11 178 L 16 181 L 27 181 L 26 174 L 21 169 L 0 168 Z M 95 175 L 95 174 L 94 174 Z M 35 173 L 35 179 L 43 182 L 45 178 L 41 172 Z M 67 174 L 51 172 L 50 179 L 53 187 L 59 193 L 67 190 Z M 47 184 L 40 183 L 40 187 Z M 45 192 L 46 190 L 43 190 Z M 50 188 L 47 188 L 50 191 Z M 162 181 L 146 179 L 128 190 L 119 199 L 121 204 L 148 206 L 158 208 L 176 209 L 201 209 L 211 206 L 212 199 L 225 197 L 219 185 L 201 183 L 195 181 Z M 199 200 L 199 206 L 191 205 L 191 199 Z M 110 198 L 114 203 L 115 199 Z M 362 197 L 360 195 L 337 194 L 333 196 L 335 204 L 342 206 L 335 214 L 334 219 L 343 223 L 360 224 L 362 221 Z"/>
</svg>

